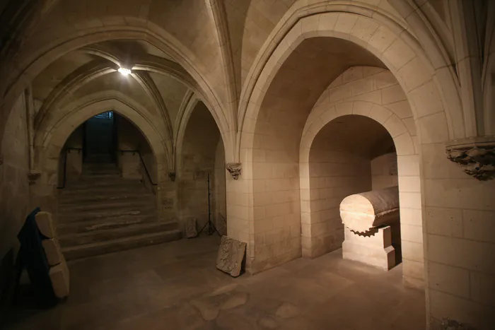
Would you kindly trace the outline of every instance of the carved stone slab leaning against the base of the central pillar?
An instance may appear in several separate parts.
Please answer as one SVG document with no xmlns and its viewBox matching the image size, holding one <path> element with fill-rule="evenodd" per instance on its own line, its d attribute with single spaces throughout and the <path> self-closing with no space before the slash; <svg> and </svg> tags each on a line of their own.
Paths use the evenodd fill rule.
<svg viewBox="0 0 495 330">
<path fill-rule="evenodd" d="M 243 261 L 246 254 L 246 243 L 222 236 L 219 256 L 216 258 L 216 268 L 238 277 L 243 270 Z"/>
</svg>

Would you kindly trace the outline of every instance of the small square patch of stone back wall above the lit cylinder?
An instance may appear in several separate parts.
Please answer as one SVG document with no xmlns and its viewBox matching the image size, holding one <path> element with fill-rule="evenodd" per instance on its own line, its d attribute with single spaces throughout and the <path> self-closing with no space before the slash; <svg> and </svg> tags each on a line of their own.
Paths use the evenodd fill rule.
<svg viewBox="0 0 495 330">
<path fill-rule="evenodd" d="M 373 190 L 397 186 L 397 154 L 386 153 L 371 160 L 371 186 Z"/>
</svg>

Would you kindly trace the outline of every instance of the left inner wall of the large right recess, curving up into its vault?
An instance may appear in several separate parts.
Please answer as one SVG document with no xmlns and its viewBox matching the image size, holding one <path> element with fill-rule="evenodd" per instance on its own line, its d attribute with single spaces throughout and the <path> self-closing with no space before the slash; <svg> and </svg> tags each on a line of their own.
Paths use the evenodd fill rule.
<svg viewBox="0 0 495 330">
<path fill-rule="evenodd" d="M 299 184 L 303 129 L 325 88 L 358 65 L 385 67 L 353 42 L 313 37 L 290 52 L 267 87 L 252 127 L 254 230 L 264 237 L 255 243 L 260 253 L 253 272 L 303 255 Z"/>
</svg>

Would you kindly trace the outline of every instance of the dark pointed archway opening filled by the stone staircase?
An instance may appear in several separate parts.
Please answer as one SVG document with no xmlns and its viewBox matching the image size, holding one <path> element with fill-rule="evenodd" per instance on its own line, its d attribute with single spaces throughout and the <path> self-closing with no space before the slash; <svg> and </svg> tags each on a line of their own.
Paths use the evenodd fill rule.
<svg viewBox="0 0 495 330">
<path fill-rule="evenodd" d="M 78 126 L 59 157 L 57 232 L 66 259 L 168 242 L 177 223 L 159 221 L 158 167 L 146 137 L 117 112 Z"/>
</svg>

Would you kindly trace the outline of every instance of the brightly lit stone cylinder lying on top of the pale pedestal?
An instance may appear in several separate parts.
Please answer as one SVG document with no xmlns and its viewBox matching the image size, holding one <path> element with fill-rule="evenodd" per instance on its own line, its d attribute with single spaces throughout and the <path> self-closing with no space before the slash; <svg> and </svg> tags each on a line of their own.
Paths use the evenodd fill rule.
<svg viewBox="0 0 495 330">
<path fill-rule="evenodd" d="M 355 232 L 368 232 L 399 220 L 399 187 L 372 190 L 344 198 L 340 203 L 342 223 Z"/>
</svg>

